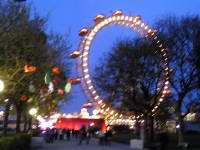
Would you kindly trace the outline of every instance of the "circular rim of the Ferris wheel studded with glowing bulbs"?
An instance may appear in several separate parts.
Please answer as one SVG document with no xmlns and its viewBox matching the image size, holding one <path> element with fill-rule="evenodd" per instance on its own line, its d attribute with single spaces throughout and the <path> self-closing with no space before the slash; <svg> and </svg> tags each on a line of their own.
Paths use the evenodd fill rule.
<svg viewBox="0 0 200 150">
<path fill-rule="evenodd" d="M 164 88 L 161 92 L 160 98 L 158 100 L 158 103 L 155 105 L 155 107 L 152 109 L 152 113 L 155 113 L 160 103 L 164 100 L 166 95 L 169 92 L 169 65 L 168 65 L 168 55 L 167 55 L 167 49 L 164 48 L 162 42 L 159 40 L 158 36 L 156 35 L 156 30 L 150 28 L 147 24 L 142 22 L 141 17 L 139 16 L 126 16 L 123 15 L 121 11 L 116 11 L 112 16 L 104 17 L 102 15 L 98 15 L 95 18 L 95 25 L 91 29 L 82 29 L 79 33 L 79 35 L 84 36 L 83 40 L 81 41 L 79 45 L 79 51 L 81 53 L 80 55 L 80 65 L 81 65 L 81 73 L 82 73 L 82 84 L 84 87 L 84 90 L 89 93 L 90 98 L 96 102 L 100 108 L 103 110 L 102 113 L 104 114 L 110 114 L 110 116 L 116 116 L 118 118 L 122 118 L 122 114 L 116 112 L 107 104 L 103 102 L 103 99 L 101 96 L 97 93 L 95 90 L 95 87 L 93 86 L 92 79 L 89 74 L 89 51 L 92 44 L 93 39 L 95 38 L 96 34 L 104 27 L 110 25 L 110 24 L 119 24 L 121 26 L 126 26 L 131 28 L 133 31 L 138 30 L 139 33 L 146 37 L 150 37 L 153 39 L 153 41 L 156 43 L 159 53 L 162 56 L 162 67 L 164 70 Z M 135 117 L 135 116 L 133 116 Z"/>
</svg>

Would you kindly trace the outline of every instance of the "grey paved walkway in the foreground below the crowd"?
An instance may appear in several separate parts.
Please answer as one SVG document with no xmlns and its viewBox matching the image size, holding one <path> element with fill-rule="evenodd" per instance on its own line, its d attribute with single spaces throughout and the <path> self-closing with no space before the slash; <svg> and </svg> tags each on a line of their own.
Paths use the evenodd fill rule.
<svg viewBox="0 0 200 150">
<path fill-rule="evenodd" d="M 111 143 L 110 146 L 99 145 L 98 141 L 92 139 L 87 145 L 83 142 L 78 145 L 78 141 L 73 139 L 71 141 L 55 141 L 53 144 L 45 144 L 43 148 L 37 150 L 131 150 L 129 145 Z"/>
</svg>

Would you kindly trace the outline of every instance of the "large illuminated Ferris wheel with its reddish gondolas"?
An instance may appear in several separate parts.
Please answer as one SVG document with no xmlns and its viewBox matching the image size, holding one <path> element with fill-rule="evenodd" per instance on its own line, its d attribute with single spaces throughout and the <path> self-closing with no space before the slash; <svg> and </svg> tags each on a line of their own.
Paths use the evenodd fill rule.
<svg viewBox="0 0 200 150">
<path fill-rule="evenodd" d="M 170 68 L 168 64 L 168 49 L 164 46 L 162 41 L 159 39 L 157 35 L 157 31 L 151 28 L 148 24 L 144 23 L 140 16 L 127 16 L 124 15 L 122 11 L 117 10 L 111 16 L 97 15 L 94 19 L 94 25 L 90 28 L 83 28 L 79 32 L 79 36 L 81 36 L 81 42 L 79 44 L 78 50 L 72 52 L 70 54 L 71 58 L 78 58 L 78 71 L 80 77 L 78 80 L 81 80 L 81 85 L 84 89 L 86 95 L 91 99 L 94 103 L 98 105 L 102 114 L 106 116 L 106 118 L 110 120 L 119 120 L 126 118 L 132 120 L 140 119 L 143 116 L 135 116 L 134 113 L 125 113 L 119 112 L 112 108 L 112 106 L 105 103 L 103 98 L 98 94 L 98 91 L 95 89 L 93 84 L 90 68 L 89 68 L 89 53 L 90 47 L 97 33 L 100 32 L 103 28 L 117 24 L 122 27 L 130 28 L 132 31 L 137 31 L 140 35 L 150 38 L 154 43 L 156 43 L 157 51 L 162 59 L 162 69 L 164 72 L 162 79 L 163 89 L 161 91 L 159 100 L 157 104 L 152 109 L 152 114 L 156 112 L 161 102 L 165 100 L 165 97 L 168 96 L 169 90 L 169 74 Z M 132 123 L 132 122 L 131 122 Z"/>
</svg>

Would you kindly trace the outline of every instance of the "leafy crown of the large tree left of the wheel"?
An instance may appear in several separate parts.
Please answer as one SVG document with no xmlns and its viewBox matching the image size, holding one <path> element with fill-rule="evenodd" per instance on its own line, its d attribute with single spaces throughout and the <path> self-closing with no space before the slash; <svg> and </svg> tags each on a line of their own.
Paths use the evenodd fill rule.
<svg viewBox="0 0 200 150">
<path fill-rule="evenodd" d="M 18 5 L 10 0 L 0 2 L 0 78 L 5 82 L 4 97 L 24 110 L 26 103 L 20 101 L 22 95 L 32 98 L 30 105 L 41 106 L 40 89 L 44 86 L 46 72 L 54 66 L 62 70 L 66 77 L 67 61 L 61 61 L 69 44 L 63 36 L 46 32 L 46 18 L 38 16 L 30 5 Z M 35 73 L 24 73 L 24 66 L 37 68 Z M 64 81 L 65 78 L 64 78 Z M 30 82 L 36 88 L 29 92 Z M 61 98 L 56 94 L 53 99 Z M 52 110 L 51 102 L 46 107 Z M 55 105 L 55 104 L 54 104 Z M 47 110 L 47 109 L 43 109 Z"/>
</svg>

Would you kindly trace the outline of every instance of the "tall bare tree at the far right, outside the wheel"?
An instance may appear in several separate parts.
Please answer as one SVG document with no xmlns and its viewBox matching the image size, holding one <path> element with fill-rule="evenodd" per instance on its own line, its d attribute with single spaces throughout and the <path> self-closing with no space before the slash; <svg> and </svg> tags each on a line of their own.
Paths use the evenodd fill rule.
<svg viewBox="0 0 200 150">
<path fill-rule="evenodd" d="M 161 36 L 171 53 L 170 66 L 173 100 L 176 102 L 177 120 L 180 125 L 179 142 L 183 141 L 183 119 L 189 113 L 188 103 L 198 97 L 199 74 L 196 54 L 200 50 L 200 18 L 198 16 L 168 16 L 157 22 Z"/>
</svg>

